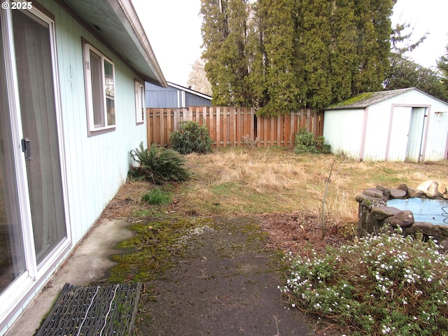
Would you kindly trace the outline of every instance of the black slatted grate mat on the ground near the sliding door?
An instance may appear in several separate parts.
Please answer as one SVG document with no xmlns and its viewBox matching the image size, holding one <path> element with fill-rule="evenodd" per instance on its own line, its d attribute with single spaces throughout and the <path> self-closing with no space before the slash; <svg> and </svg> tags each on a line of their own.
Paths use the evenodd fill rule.
<svg viewBox="0 0 448 336">
<path fill-rule="evenodd" d="M 35 336 L 132 335 L 141 283 L 73 286 L 62 293 Z"/>
</svg>

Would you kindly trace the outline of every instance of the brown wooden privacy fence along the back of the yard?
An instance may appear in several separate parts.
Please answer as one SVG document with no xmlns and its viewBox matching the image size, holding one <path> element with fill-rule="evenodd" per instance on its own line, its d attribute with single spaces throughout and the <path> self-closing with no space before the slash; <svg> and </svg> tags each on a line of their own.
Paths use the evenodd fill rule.
<svg viewBox="0 0 448 336">
<path fill-rule="evenodd" d="M 146 109 L 148 144 L 170 146 L 169 134 L 179 122 L 207 125 L 214 147 L 246 146 L 243 137 L 259 139 L 258 147 L 293 147 L 295 133 L 305 127 L 315 137 L 323 134 L 323 111 L 300 109 L 276 117 L 255 116 L 253 108 L 190 106 L 180 109 Z"/>
</svg>

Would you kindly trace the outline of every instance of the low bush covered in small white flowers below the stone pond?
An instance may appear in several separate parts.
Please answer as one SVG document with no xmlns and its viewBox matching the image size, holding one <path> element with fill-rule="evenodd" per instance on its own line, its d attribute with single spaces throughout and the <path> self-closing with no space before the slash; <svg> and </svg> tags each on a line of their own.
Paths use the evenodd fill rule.
<svg viewBox="0 0 448 336">
<path fill-rule="evenodd" d="M 281 291 L 293 307 L 353 335 L 448 335 L 448 258 L 435 241 L 382 233 L 293 256 Z"/>
</svg>

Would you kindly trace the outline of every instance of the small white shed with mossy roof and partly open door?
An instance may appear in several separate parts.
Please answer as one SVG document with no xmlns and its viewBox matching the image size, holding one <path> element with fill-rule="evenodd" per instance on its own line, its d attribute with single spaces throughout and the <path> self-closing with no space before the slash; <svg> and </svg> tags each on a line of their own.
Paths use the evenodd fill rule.
<svg viewBox="0 0 448 336">
<path fill-rule="evenodd" d="M 416 87 L 357 94 L 324 110 L 323 137 L 355 160 L 445 160 L 448 104 Z"/>
</svg>

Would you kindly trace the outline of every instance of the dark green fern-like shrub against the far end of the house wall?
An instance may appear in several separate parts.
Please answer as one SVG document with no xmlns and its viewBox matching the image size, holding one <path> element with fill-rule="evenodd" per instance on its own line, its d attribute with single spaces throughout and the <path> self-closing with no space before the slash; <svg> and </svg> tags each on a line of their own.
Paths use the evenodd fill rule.
<svg viewBox="0 0 448 336">
<path fill-rule="evenodd" d="M 130 151 L 130 157 L 138 167 L 131 167 L 129 175 L 132 178 L 148 179 L 155 184 L 165 182 L 181 182 L 188 179 L 188 170 L 179 153 L 167 148 L 158 148 L 154 144 L 144 149 L 143 142 L 139 148 Z"/>
</svg>

